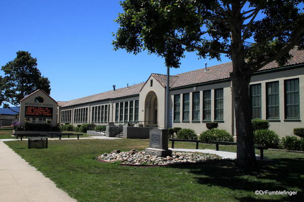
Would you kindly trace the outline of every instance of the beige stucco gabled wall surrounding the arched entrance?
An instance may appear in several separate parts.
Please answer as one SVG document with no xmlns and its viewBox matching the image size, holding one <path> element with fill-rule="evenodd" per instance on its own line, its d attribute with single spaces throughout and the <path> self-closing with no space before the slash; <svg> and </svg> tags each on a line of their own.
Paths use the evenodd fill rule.
<svg viewBox="0 0 304 202">
<path fill-rule="evenodd" d="M 153 86 L 150 87 L 150 80 L 153 80 Z M 145 117 L 146 108 L 146 97 L 149 92 L 153 91 L 157 97 L 157 122 L 158 127 L 164 128 L 165 123 L 165 88 L 161 86 L 157 80 L 151 75 L 148 79 L 148 82 L 143 86 L 140 92 L 140 101 L 139 101 L 139 120 L 143 121 L 147 118 Z"/>
</svg>

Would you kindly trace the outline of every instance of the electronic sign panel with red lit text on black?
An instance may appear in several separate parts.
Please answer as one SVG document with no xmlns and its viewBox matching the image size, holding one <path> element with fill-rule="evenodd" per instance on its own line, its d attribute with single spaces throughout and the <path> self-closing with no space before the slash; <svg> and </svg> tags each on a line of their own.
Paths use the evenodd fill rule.
<svg viewBox="0 0 304 202">
<path fill-rule="evenodd" d="M 25 116 L 28 118 L 52 118 L 53 107 L 25 106 Z"/>
</svg>

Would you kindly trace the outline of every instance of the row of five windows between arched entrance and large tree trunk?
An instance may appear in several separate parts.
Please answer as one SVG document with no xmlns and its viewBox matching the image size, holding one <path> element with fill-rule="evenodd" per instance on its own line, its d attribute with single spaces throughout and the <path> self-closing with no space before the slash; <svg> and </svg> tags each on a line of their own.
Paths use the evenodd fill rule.
<svg viewBox="0 0 304 202">
<path fill-rule="evenodd" d="M 214 90 L 214 114 L 215 120 L 223 120 L 224 118 L 224 90 L 215 89 Z M 211 120 L 211 90 L 206 90 L 202 92 L 202 120 Z M 174 121 L 180 121 L 180 104 L 181 95 L 174 95 Z M 190 93 L 183 94 L 182 101 L 183 111 L 182 111 L 182 121 L 188 122 L 190 120 Z M 199 111 L 200 111 L 200 92 L 192 93 L 192 121 L 199 121 Z"/>
</svg>

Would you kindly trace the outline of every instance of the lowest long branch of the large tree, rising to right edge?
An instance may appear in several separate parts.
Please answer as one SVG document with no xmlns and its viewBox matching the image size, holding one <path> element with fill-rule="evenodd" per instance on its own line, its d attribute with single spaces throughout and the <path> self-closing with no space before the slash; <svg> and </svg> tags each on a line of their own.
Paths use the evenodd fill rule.
<svg viewBox="0 0 304 202">
<path fill-rule="evenodd" d="M 289 43 L 287 43 L 285 46 L 283 46 L 279 52 L 277 54 L 275 54 L 273 57 L 261 62 L 258 65 L 253 66 L 251 69 L 253 71 L 257 71 L 260 68 L 262 68 L 263 66 L 265 66 L 266 64 L 279 59 L 280 57 L 282 57 L 283 55 L 289 53 L 289 51 L 302 39 L 303 37 L 303 32 L 304 32 L 304 26 L 300 27 L 298 32 L 295 33 L 293 39 L 291 39 L 291 41 Z"/>
</svg>

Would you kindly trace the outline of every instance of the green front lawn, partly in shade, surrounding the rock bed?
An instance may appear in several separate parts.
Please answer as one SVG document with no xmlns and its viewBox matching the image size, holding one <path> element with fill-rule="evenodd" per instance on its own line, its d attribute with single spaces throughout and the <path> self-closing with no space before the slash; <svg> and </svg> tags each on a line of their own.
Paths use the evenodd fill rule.
<svg viewBox="0 0 304 202">
<path fill-rule="evenodd" d="M 304 154 L 266 150 L 272 161 L 259 173 L 243 173 L 234 160 L 192 166 L 136 168 L 96 161 L 114 149 L 148 147 L 148 140 L 49 141 L 48 149 L 27 149 L 25 141 L 5 142 L 78 201 L 302 201 Z M 176 142 L 176 147 L 195 148 Z M 202 148 L 215 145 L 201 144 Z M 220 146 L 235 151 L 234 146 Z M 258 153 L 258 152 L 257 152 Z M 255 195 L 255 190 L 298 191 L 297 195 Z"/>
</svg>

